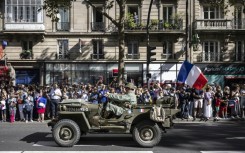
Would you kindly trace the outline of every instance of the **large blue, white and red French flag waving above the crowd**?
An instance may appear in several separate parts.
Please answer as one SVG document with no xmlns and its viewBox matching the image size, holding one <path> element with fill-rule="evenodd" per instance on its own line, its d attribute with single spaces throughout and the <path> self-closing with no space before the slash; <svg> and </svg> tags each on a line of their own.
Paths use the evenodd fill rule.
<svg viewBox="0 0 245 153">
<path fill-rule="evenodd" d="M 195 89 L 202 89 L 208 82 L 202 71 L 188 61 L 183 62 L 177 81 L 183 82 Z"/>
</svg>

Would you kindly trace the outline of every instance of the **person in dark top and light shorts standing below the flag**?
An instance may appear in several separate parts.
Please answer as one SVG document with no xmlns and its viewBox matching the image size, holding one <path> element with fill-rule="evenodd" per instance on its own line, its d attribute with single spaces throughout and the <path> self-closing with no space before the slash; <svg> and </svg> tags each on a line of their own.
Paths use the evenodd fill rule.
<svg viewBox="0 0 245 153">
<path fill-rule="evenodd" d="M 196 117 L 202 117 L 202 108 L 203 108 L 203 90 L 193 89 L 192 92 L 193 102 L 194 102 L 194 112 L 193 112 L 193 121 L 196 120 Z"/>
</svg>

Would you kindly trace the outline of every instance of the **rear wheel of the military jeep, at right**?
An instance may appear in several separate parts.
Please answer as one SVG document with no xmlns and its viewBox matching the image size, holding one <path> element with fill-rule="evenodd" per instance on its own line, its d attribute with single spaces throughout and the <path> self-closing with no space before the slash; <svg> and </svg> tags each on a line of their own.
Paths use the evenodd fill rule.
<svg viewBox="0 0 245 153">
<path fill-rule="evenodd" d="M 154 147 L 162 138 L 162 131 L 152 121 L 138 123 L 133 129 L 134 140 L 142 147 Z"/>
</svg>

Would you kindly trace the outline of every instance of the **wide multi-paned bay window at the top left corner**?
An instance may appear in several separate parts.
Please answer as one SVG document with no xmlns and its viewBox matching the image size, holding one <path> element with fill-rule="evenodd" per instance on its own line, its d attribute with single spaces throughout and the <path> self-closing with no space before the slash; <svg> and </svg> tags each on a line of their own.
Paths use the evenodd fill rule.
<svg viewBox="0 0 245 153">
<path fill-rule="evenodd" d="M 6 22 L 43 23 L 43 0 L 5 0 Z"/>
</svg>

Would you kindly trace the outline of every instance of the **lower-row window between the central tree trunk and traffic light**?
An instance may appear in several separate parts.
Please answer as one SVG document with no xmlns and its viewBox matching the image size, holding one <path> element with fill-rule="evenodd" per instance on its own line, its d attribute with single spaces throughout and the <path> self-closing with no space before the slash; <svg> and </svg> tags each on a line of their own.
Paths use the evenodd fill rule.
<svg viewBox="0 0 245 153">
<path fill-rule="evenodd" d="M 138 59 L 139 58 L 139 44 L 138 44 L 138 41 L 129 41 L 127 46 L 128 46 L 127 58 L 129 58 L 129 59 Z"/>
</svg>

